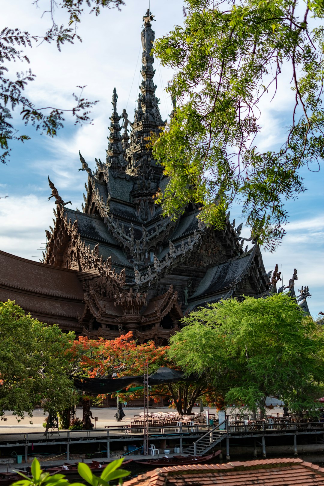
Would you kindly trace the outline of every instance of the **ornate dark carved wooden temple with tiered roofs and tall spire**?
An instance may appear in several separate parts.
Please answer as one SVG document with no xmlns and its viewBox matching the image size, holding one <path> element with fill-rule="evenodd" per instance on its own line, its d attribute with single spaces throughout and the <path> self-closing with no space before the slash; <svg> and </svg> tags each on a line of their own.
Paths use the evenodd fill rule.
<svg viewBox="0 0 324 486">
<path fill-rule="evenodd" d="M 153 195 L 168 182 L 147 147 L 165 121 L 153 82 L 153 17 L 143 17 L 142 82 L 134 121 L 113 93 L 106 160 L 87 174 L 82 212 L 67 207 L 49 180 L 56 207 L 42 263 L 0 252 L 8 272 L 0 300 L 15 299 L 43 322 L 92 338 L 132 330 L 139 342 L 167 343 L 182 316 L 221 298 L 269 292 L 259 247 L 243 250 L 241 227 L 209 228 L 189 204 L 177 221 Z"/>
</svg>

